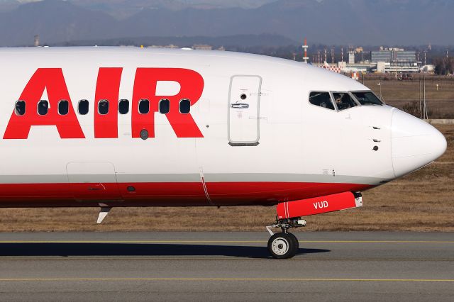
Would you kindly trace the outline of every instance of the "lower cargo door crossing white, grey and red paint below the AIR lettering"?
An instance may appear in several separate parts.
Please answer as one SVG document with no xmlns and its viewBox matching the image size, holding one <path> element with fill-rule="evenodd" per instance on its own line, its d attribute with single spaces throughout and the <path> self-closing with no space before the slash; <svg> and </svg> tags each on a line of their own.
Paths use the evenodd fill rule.
<svg viewBox="0 0 454 302">
<path fill-rule="evenodd" d="M 121 194 L 111 162 L 70 162 L 70 190 L 78 201 L 119 201 Z"/>
</svg>

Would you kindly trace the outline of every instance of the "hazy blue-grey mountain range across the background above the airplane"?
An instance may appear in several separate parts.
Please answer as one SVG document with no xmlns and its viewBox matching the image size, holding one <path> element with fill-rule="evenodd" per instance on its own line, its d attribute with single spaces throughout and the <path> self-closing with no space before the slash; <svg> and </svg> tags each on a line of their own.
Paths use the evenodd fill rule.
<svg viewBox="0 0 454 302">
<path fill-rule="evenodd" d="M 8 1 L 0 0 L 0 4 Z M 299 42 L 306 37 L 309 43 L 329 45 L 454 44 L 452 0 L 243 0 L 251 5 L 254 1 L 265 4 L 252 9 L 217 6 L 227 2 L 221 0 L 44 0 L 19 4 L 15 9 L 0 9 L 0 45 L 31 45 L 35 34 L 43 43 L 60 43 L 262 33 Z M 210 2 L 211 6 L 204 4 Z M 112 10 L 123 18 L 114 17 Z"/>
</svg>

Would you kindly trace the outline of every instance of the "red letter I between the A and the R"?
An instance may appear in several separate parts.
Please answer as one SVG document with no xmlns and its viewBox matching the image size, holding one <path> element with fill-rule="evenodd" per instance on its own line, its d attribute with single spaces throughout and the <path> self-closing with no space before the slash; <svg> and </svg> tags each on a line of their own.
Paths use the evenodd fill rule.
<svg viewBox="0 0 454 302">
<path fill-rule="evenodd" d="M 99 68 L 94 96 L 94 137 L 118 138 L 118 94 L 123 68 Z M 100 100 L 109 101 L 109 112 L 98 112 Z"/>
</svg>

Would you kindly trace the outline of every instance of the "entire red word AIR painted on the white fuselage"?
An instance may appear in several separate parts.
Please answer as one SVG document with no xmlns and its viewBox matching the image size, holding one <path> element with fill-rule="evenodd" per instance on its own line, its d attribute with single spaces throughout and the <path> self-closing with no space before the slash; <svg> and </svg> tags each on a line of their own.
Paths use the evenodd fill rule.
<svg viewBox="0 0 454 302">
<path fill-rule="evenodd" d="M 118 138 L 118 94 L 120 89 L 121 67 L 101 67 L 96 82 L 94 106 L 94 137 Z M 175 96 L 156 96 L 159 81 L 178 82 L 181 89 Z M 40 116 L 37 112 L 38 102 L 44 89 L 48 92 L 48 114 Z M 178 138 L 203 138 L 191 113 L 179 113 L 179 101 L 189 99 L 191 106 L 199 101 L 204 90 L 204 79 L 198 72 L 181 68 L 138 68 L 135 72 L 131 127 L 133 138 L 140 138 L 140 131 L 148 130 L 150 138 L 155 137 L 155 113 L 160 99 L 170 101 L 170 112 L 165 114 Z M 109 101 L 109 113 L 98 113 L 98 102 Z M 150 101 L 150 111 L 138 112 L 141 99 Z M 60 138 L 85 138 L 74 112 L 65 77 L 61 68 L 38 68 L 23 89 L 19 100 L 26 101 L 26 113 L 23 116 L 11 114 L 6 127 L 4 139 L 26 139 L 33 125 L 55 125 Z M 58 114 L 58 101 L 69 102 L 69 112 L 65 116 Z"/>
</svg>

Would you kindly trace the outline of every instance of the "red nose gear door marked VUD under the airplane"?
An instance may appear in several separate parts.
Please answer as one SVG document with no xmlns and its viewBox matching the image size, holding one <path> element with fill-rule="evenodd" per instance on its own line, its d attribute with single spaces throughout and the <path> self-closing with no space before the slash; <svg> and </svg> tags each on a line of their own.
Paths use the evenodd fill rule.
<svg viewBox="0 0 454 302">
<path fill-rule="evenodd" d="M 356 208 L 355 196 L 352 192 L 343 192 L 328 196 L 289 201 L 277 205 L 277 218 L 296 218 L 321 213 Z"/>
</svg>

